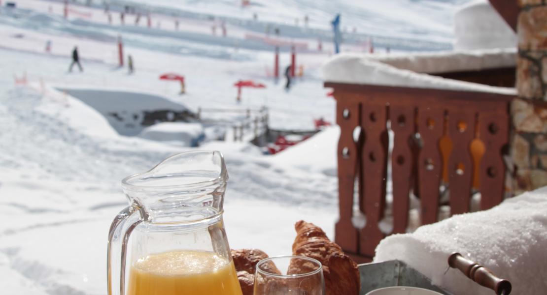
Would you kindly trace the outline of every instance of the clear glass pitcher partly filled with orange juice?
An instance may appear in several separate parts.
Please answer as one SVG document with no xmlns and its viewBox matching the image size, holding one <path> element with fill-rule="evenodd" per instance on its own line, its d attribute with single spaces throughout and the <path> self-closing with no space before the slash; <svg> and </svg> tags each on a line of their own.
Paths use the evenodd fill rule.
<svg viewBox="0 0 547 295">
<path fill-rule="evenodd" d="M 218 151 L 176 154 L 124 178 L 129 206 L 108 234 L 108 294 L 241 295 L 222 220 L 227 180 Z"/>
</svg>

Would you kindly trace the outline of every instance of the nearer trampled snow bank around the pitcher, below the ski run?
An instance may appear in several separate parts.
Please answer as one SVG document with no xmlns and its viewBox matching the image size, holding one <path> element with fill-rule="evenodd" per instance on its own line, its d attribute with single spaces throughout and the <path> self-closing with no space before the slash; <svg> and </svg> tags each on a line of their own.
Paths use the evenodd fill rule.
<svg viewBox="0 0 547 295">
<path fill-rule="evenodd" d="M 0 285 L 8 294 L 103 294 L 108 227 L 126 206 L 120 179 L 185 149 L 138 137 L 88 135 L 71 127 L 77 117 L 50 113 L 55 107 L 75 111 L 72 105 L 33 89 L 12 89 L 0 101 L 0 128 L 17 130 L 0 133 L 0 272 L 19 278 Z M 84 104 L 79 112 L 96 113 Z M 277 167 L 249 143 L 210 142 L 202 148 L 220 149 L 226 157 L 225 226 L 233 248 L 289 254 L 299 219 L 332 233 L 331 177 Z"/>
</svg>

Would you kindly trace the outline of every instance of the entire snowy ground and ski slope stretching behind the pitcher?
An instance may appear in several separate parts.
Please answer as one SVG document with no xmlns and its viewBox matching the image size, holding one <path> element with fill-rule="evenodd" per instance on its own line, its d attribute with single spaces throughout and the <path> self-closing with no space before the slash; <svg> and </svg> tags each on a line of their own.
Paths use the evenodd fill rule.
<svg viewBox="0 0 547 295">
<path fill-rule="evenodd" d="M 320 75 L 332 47 L 328 20 L 333 7 L 341 9 L 345 26 L 358 29 L 345 33 L 345 51 L 363 51 L 362 41 L 372 33 L 375 44 L 394 51 L 447 49 L 450 15 L 463 1 L 316 5 L 259 0 L 245 10 L 231 1 L 146 1 L 139 9 L 152 12 L 153 28 L 146 27 L 146 18 L 133 25 L 134 15 L 126 15 L 126 25 L 120 25 L 114 4 L 108 25 L 98 1 L 91 7 L 71 1 L 71 11 L 79 13 L 67 20 L 62 1 L 15 2 L 19 9 L 0 8 L 0 275 L 9 278 L 0 280 L 0 289 L 5 294 L 87 295 L 106 292 L 108 228 L 127 206 L 120 180 L 169 155 L 195 150 L 127 136 L 142 130 L 117 125 L 109 112 L 130 119 L 159 107 L 191 113 L 224 110 L 217 115 L 202 112 L 205 120 L 228 122 L 203 132 L 222 134 L 231 130 L 231 123 L 246 119 L 231 115 L 231 110 L 245 114 L 265 106 L 271 128 L 313 130 L 313 119 L 335 118 L 335 102 L 326 97 Z M 401 10 L 395 13 L 395 8 Z M 251 21 L 255 9 L 257 22 Z M 219 20 L 210 20 L 209 13 L 225 17 L 228 37 L 211 34 L 211 25 Z M 309 28 L 287 20 L 304 14 L 310 16 Z M 178 32 L 173 15 L 181 21 Z M 245 37 L 265 38 L 268 25 L 280 26 L 283 40 L 309 48 L 298 52 L 296 62 L 304 67 L 304 76 L 295 79 L 289 92 L 283 81 L 272 79 L 271 45 Z M 131 75 L 118 66 L 120 34 L 125 54 L 135 63 Z M 324 41 L 323 52 L 312 50 L 318 39 Z M 45 52 L 48 42 L 51 51 Z M 67 73 L 75 45 L 83 73 Z M 281 49 L 282 68 L 289 64 L 288 50 Z M 184 75 L 186 94 L 178 94 L 179 83 L 158 79 L 171 72 Z M 14 76 L 26 76 L 28 83 L 16 84 Z M 244 89 L 238 103 L 232 85 L 247 79 L 266 88 Z M 165 139 L 188 131 L 182 124 L 161 123 L 143 132 Z M 232 248 L 290 254 L 294 222 L 300 219 L 333 237 L 338 134 L 337 127 L 326 128 L 275 156 L 263 155 L 249 142 L 202 143 L 200 149 L 220 150 L 225 156 L 230 180 L 224 221 Z"/>
</svg>

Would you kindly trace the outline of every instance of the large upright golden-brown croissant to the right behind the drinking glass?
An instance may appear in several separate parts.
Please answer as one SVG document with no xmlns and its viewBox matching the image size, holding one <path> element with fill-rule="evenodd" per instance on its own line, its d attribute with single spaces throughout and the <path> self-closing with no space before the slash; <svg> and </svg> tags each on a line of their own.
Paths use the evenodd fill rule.
<svg viewBox="0 0 547 295">
<path fill-rule="evenodd" d="M 342 248 L 331 242 L 320 227 L 300 220 L 294 225 L 296 238 L 293 255 L 315 258 L 323 265 L 326 295 L 358 295 L 360 289 L 359 270 Z M 305 263 L 293 261 L 288 273 L 310 270 Z"/>
</svg>

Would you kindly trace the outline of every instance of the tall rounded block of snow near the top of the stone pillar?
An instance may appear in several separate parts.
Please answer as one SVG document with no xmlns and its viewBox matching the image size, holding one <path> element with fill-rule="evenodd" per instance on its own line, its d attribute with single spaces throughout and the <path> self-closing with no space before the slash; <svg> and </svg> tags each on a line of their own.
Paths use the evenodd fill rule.
<svg viewBox="0 0 547 295">
<path fill-rule="evenodd" d="M 511 1 L 511 0 L 507 0 Z M 464 4 L 454 15 L 455 50 L 516 47 L 516 34 L 487 0 Z"/>
</svg>

